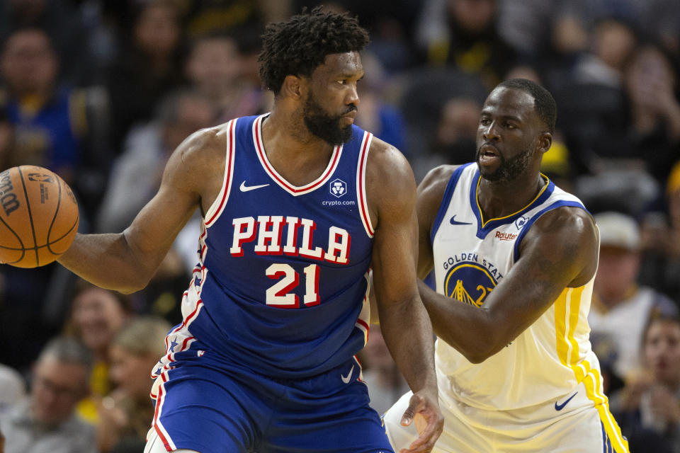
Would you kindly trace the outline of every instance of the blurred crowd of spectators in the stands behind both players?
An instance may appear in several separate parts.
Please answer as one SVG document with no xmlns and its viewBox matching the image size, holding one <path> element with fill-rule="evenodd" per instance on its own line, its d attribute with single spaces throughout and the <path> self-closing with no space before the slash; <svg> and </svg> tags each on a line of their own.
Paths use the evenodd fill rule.
<svg viewBox="0 0 680 453">
<path fill-rule="evenodd" d="M 0 168 L 50 168 L 77 194 L 80 231 L 122 231 L 188 134 L 268 111 L 263 27 L 319 3 L 0 2 Z M 418 181 L 475 159 L 480 109 L 499 81 L 553 93 L 543 172 L 601 229 L 591 339 L 612 410 L 631 451 L 680 452 L 680 1 L 324 4 L 370 31 L 356 123 L 399 148 Z M 149 371 L 181 322 L 198 215 L 130 296 L 57 264 L 0 266 L 6 453 L 141 451 Z M 407 386 L 379 330 L 360 358 L 382 412 Z"/>
</svg>

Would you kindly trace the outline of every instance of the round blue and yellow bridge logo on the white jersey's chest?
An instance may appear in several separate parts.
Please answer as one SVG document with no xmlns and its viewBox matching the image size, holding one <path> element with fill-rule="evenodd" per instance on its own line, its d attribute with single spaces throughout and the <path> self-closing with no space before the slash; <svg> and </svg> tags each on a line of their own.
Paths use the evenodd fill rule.
<svg viewBox="0 0 680 453">
<path fill-rule="evenodd" d="M 482 306 L 496 287 L 496 279 L 479 263 L 463 261 L 450 268 L 444 280 L 444 292 L 451 299 Z"/>
</svg>

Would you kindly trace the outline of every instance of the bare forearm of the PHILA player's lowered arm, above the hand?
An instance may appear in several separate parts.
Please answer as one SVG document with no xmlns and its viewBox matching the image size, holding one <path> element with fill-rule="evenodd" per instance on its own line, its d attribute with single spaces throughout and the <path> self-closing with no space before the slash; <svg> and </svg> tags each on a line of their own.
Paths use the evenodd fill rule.
<svg viewBox="0 0 680 453">
<path fill-rule="evenodd" d="M 436 391 L 434 334 L 418 298 L 380 311 L 380 330 L 411 389 Z"/>
</svg>

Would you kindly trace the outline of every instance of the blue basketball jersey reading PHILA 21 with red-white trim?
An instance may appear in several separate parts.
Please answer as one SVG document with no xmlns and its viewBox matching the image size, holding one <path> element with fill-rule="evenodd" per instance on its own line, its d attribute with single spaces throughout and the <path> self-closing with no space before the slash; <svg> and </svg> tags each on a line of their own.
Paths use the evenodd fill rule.
<svg viewBox="0 0 680 453">
<path fill-rule="evenodd" d="M 373 228 L 364 175 L 372 136 L 352 126 L 322 175 L 296 187 L 267 159 L 265 119 L 238 118 L 220 132 L 228 134 L 222 190 L 201 224 L 183 323 L 166 338 L 168 354 L 154 375 L 200 345 L 261 374 L 310 377 L 365 345 Z"/>
</svg>

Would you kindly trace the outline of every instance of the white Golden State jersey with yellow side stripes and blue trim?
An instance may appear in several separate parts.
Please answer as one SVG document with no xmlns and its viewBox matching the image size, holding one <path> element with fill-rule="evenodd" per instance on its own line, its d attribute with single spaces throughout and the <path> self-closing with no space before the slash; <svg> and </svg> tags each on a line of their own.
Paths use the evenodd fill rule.
<svg viewBox="0 0 680 453">
<path fill-rule="evenodd" d="M 483 306 L 519 259 L 523 237 L 542 214 L 564 206 L 585 210 L 577 197 L 545 178 L 543 189 L 522 210 L 483 219 L 477 202 L 479 183 L 477 164 L 454 171 L 431 232 L 436 291 L 454 299 L 451 303 Z M 472 408 L 514 411 L 552 406 L 583 384 L 587 398 L 578 404 L 596 408 L 608 437 L 623 442 L 589 341 L 593 281 L 594 277 L 582 287 L 565 288 L 526 331 L 480 364 L 437 340 L 436 368 L 440 378 L 446 377 L 445 385 L 440 379 L 440 392 Z"/>
</svg>

